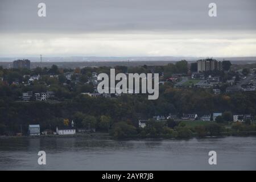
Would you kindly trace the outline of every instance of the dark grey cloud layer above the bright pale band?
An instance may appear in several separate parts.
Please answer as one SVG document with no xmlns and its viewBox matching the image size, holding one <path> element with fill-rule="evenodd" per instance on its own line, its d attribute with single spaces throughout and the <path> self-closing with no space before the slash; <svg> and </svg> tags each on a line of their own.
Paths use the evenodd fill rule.
<svg viewBox="0 0 256 182">
<path fill-rule="evenodd" d="M 217 17 L 208 16 L 210 2 Z M 0 32 L 256 30 L 255 8 L 255 0 L 0 0 Z"/>
</svg>

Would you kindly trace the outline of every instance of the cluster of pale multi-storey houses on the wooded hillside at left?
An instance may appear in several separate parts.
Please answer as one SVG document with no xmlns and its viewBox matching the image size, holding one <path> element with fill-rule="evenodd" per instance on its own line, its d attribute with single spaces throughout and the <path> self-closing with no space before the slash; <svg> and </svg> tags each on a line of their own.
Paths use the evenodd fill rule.
<svg viewBox="0 0 256 182">
<path fill-rule="evenodd" d="M 36 100 L 36 101 L 47 101 L 49 98 L 54 97 L 54 92 L 47 90 L 46 92 L 40 92 L 40 93 L 34 93 L 32 91 L 28 92 L 23 92 L 22 93 L 22 100 L 23 101 L 31 101 Z"/>
</svg>

